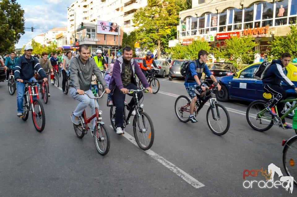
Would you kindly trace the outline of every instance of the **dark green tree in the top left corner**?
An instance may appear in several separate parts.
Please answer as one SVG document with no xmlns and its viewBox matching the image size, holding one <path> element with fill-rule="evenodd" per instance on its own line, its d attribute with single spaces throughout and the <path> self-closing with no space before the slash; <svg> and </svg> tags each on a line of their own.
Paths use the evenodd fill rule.
<svg viewBox="0 0 297 197">
<path fill-rule="evenodd" d="M 24 35 L 24 10 L 16 0 L 0 1 L 0 52 L 10 52 Z"/>
</svg>

